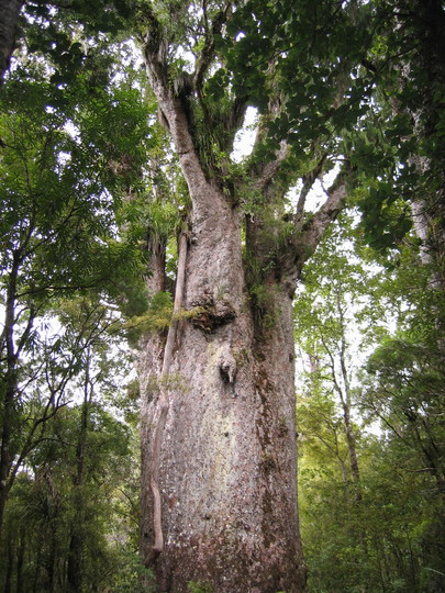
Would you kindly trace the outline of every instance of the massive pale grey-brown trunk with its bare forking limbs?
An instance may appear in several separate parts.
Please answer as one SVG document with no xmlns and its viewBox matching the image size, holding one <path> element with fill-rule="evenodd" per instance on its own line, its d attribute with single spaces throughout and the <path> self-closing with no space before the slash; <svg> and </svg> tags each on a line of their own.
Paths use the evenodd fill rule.
<svg viewBox="0 0 445 593">
<path fill-rule="evenodd" d="M 146 336 L 140 358 L 142 552 L 160 591 L 187 592 L 194 582 L 213 593 L 302 593 L 292 296 L 303 261 L 340 211 L 344 184 L 310 221 L 301 200 L 286 240 L 276 236 L 279 215 L 267 224 L 262 212 L 246 216 L 240 187 L 219 175 L 220 164 L 210 170 L 197 148 L 189 98 L 171 82 L 163 32 L 148 18 L 147 74 L 191 211 L 168 336 Z M 211 44 L 207 49 L 203 59 Z M 189 77 L 198 104 L 201 66 Z M 211 113 L 200 108 L 205 133 Z M 232 101 L 227 136 L 244 111 L 243 101 Z M 278 191 L 274 176 L 285 157 L 282 143 L 275 160 L 247 174 L 265 204 Z M 162 254 L 152 246 L 151 292 L 163 290 Z"/>
</svg>

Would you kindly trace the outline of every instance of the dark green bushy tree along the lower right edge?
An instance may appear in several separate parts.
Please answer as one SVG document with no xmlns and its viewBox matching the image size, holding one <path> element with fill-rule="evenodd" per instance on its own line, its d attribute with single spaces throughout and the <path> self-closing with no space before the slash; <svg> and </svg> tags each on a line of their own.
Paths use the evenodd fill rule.
<svg viewBox="0 0 445 593">
<path fill-rule="evenodd" d="M 369 358 L 361 405 L 381 421 L 386 455 L 418 500 L 416 527 L 410 533 L 413 582 L 419 590 L 444 586 L 443 541 L 443 295 L 431 269 L 420 266 L 421 255 L 403 254 L 394 271 L 392 299 L 409 294 L 401 307 L 398 331 Z M 409 287 L 409 290 L 408 290 Z M 404 296 L 405 298 L 405 296 Z M 421 496 L 422 500 L 419 500 Z M 415 578 L 415 579 L 414 579 Z"/>
</svg>

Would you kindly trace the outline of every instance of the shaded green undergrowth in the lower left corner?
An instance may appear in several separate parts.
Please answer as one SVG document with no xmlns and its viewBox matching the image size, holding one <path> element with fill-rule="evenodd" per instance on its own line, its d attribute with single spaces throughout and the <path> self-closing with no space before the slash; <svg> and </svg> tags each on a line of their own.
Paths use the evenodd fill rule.
<svg viewBox="0 0 445 593">
<path fill-rule="evenodd" d="M 73 534 L 79 528 L 82 537 L 82 563 L 79 567 L 82 590 L 92 591 L 94 586 L 102 585 L 118 570 L 120 550 L 108 541 L 108 535 L 119 516 L 110 515 L 110 499 L 116 495 L 115 488 L 123 481 L 123 472 L 129 471 L 124 458 L 127 436 L 125 433 L 113 434 L 112 430 L 120 427 L 112 426 L 107 416 L 100 417 L 99 410 L 94 411 L 91 430 L 101 430 L 102 435 L 107 430 L 107 438 L 97 439 L 98 443 L 91 439 L 89 452 L 92 455 L 87 458 L 90 465 L 88 483 L 84 483 L 79 492 L 74 485 L 73 474 L 77 471 L 73 454 L 76 450 L 78 412 L 67 409 L 57 416 L 55 426 L 47 430 L 46 446 L 34 451 L 29 470 L 18 475 L 16 486 L 11 491 L 0 560 L 3 575 L 19 563 L 16 579 L 21 580 L 24 590 L 66 590 L 66 561 L 71 555 Z M 77 512 L 78 496 L 82 501 L 80 515 Z M 23 550 L 27 561 L 20 567 Z"/>
</svg>

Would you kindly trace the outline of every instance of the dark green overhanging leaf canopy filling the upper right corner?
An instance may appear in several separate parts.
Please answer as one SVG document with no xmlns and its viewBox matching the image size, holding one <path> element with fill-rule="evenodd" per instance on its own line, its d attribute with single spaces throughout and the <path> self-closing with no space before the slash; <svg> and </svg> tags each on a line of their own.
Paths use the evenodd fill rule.
<svg viewBox="0 0 445 593">
<path fill-rule="evenodd" d="M 233 90 L 263 113 L 279 101 L 269 149 L 286 137 L 298 154 L 315 143 L 349 159 L 366 236 L 382 251 L 410 231 L 416 201 L 434 220 L 429 244 L 443 233 L 443 22 L 435 0 L 253 0 L 220 41 Z"/>
</svg>

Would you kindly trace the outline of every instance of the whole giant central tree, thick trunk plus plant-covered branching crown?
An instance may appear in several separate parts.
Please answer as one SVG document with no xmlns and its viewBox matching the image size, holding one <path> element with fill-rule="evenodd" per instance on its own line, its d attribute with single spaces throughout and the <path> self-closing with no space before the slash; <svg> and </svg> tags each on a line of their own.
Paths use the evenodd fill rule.
<svg viewBox="0 0 445 593">
<path fill-rule="evenodd" d="M 305 2 L 300 8 L 310 12 Z M 231 40 L 243 47 L 252 42 L 238 11 L 242 22 L 242 3 L 153 2 L 141 9 L 137 24 L 159 119 L 189 193 L 173 322 L 167 335 L 145 337 L 140 361 L 142 550 L 162 591 L 187 591 L 190 582 L 231 593 L 304 590 L 292 298 L 304 261 L 346 195 L 342 169 L 324 204 L 304 211 L 309 189 L 338 157 L 337 124 L 326 105 L 338 122 L 346 75 L 334 70 L 335 92 L 327 97 L 325 81 L 315 80 L 324 125 L 320 118 L 309 134 L 304 115 L 301 136 L 291 134 L 297 123 L 283 125 L 283 54 L 269 46 L 263 52 L 263 91 L 241 85 L 231 69 L 237 59 L 226 53 Z M 332 15 L 322 11 L 324 27 Z M 341 15 L 352 18 L 348 10 Z M 251 56 L 263 42 L 254 41 Z M 323 44 L 312 52 L 311 68 L 336 61 Z M 308 69 L 309 63 L 302 78 Z M 251 104 L 259 108 L 256 141 L 236 164 L 234 138 Z M 300 178 L 292 204 L 287 192 Z M 165 239 L 151 242 L 151 259 L 155 298 L 167 286 Z"/>
</svg>

